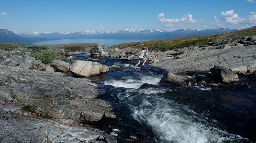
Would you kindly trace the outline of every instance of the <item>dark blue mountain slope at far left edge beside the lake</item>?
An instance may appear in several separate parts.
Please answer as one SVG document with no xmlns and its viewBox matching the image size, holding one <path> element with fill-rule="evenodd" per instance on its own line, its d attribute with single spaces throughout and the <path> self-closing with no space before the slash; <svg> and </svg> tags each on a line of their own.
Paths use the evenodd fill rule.
<svg viewBox="0 0 256 143">
<path fill-rule="evenodd" d="M 49 39 L 36 38 L 36 37 L 21 37 L 8 29 L 0 29 L 0 42 L 4 42 L 4 43 L 19 43 L 19 44 L 30 45 L 37 41 L 46 41 L 46 40 L 49 40 Z"/>
</svg>

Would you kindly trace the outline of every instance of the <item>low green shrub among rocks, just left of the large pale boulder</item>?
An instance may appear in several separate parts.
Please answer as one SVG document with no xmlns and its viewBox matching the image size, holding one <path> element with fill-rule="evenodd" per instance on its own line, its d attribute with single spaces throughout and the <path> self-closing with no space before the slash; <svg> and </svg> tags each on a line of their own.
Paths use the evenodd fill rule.
<svg viewBox="0 0 256 143">
<path fill-rule="evenodd" d="M 30 55 L 37 60 L 41 60 L 44 64 L 51 63 L 54 59 L 66 61 L 66 58 L 59 55 L 55 51 L 43 50 Z"/>
</svg>

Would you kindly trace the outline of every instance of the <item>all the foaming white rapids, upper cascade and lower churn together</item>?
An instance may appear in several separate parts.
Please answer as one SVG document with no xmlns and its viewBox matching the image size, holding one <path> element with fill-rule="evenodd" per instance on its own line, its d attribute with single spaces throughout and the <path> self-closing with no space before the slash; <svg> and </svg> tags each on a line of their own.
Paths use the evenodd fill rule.
<svg viewBox="0 0 256 143">
<path fill-rule="evenodd" d="M 136 76 L 123 77 L 120 80 L 109 79 L 104 84 L 126 88 L 125 92 L 115 93 L 113 96 L 117 96 L 120 103 L 129 105 L 133 119 L 152 128 L 156 135 L 155 142 L 221 143 L 247 140 L 210 126 L 201 115 L 189 109 L 189 106 L 164 98 L 164 94 L 172 89 L 157 86 L 162 76 L 146 76 L 143 73 Z M 155 87 L 141 87 L 144 83 Z"/>
</svg>

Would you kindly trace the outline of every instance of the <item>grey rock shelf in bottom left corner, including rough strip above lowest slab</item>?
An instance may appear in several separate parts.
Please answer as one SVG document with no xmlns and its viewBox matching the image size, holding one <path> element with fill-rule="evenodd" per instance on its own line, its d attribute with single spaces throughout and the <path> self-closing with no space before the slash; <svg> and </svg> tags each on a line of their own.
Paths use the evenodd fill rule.
<svg viewBox="0 0 256 143">
<path fill-rule="evenodd" d="M 115 138 L 99 129 L 60 124 L 3 101 L 0 101 L 0 132 L 1 142 L 116 142 Z"/>
</svg>

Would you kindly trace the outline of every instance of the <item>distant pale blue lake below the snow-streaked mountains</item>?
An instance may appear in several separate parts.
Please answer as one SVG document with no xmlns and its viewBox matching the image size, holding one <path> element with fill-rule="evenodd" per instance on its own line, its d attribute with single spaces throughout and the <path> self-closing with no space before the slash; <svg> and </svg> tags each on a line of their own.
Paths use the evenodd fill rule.
<svg viewBox="0 0 256 143">
<path fill-rule="evenodd" d="M 57 45 L 70 43 L 97 43 L 106 46 L 113 46 L 121 43 L 148 41 L 152 39 L 60 39 L 50 41 L 40 41 L 33 43 L 34 45 Z"/>
</svg>

